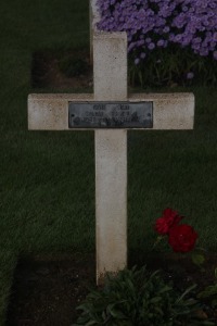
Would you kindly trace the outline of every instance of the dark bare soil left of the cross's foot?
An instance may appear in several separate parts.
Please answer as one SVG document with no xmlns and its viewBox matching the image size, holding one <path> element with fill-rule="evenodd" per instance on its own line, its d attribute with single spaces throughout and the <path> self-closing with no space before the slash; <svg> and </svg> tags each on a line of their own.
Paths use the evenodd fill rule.
<svg viewBox="0 0 217 326">
<path fill-rule="evenodd" d="M 94 286 L 94 258 L 36 256 L 21 260 L 14 274 L 7 326 L 69 326 L 76 306 Z"/>
</svg>

